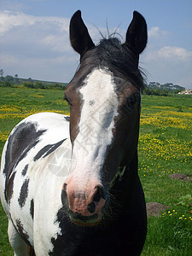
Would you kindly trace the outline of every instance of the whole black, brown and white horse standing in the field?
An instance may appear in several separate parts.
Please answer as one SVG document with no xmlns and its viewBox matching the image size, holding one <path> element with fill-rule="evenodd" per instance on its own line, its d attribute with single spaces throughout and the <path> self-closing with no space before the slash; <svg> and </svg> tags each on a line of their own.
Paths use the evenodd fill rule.
<svg viewBox="0 0 192 256">
<path fill-rule="evenodd" d="M 137 142 L 147 24 L 134 11 L 125 43 L 95 45 L 77 11 L 70 42 L 79 69 L 70 117 L 36 113 L 11 131 L 0 189 L 15 255 L 140 255 L 147 234 Z"/>
</svg>

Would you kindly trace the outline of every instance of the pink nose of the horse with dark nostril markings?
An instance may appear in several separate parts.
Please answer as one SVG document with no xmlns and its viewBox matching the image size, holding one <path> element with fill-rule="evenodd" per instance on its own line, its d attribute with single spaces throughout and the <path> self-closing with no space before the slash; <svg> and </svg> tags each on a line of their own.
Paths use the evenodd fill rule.
<svg viewBox="0 0 192 256">
<path fill-rule="evenodd" d="M 105 205 L 105 191 L 101 184 L 89 183 L 86 186 L 77 185 L 73 180 L 63 185 L 67 193 L 69 208 L 81 216 L 102 215 Z"/>
</svg>

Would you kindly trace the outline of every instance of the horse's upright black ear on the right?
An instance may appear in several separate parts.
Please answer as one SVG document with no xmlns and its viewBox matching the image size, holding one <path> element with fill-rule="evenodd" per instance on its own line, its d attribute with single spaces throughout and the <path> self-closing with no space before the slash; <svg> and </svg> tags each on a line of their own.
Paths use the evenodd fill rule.
<svg viewBox="0 0 192 256">
<path fill-rule="evenodd" d="M 135 51 L 138 55 L 143 52 L 148 41 L 147 24 L 143 15 L 137 11 L 133 12 L 131 24 L 126 32 L 125 44 L 128 44 L 130 49 Z"/>
</svg>

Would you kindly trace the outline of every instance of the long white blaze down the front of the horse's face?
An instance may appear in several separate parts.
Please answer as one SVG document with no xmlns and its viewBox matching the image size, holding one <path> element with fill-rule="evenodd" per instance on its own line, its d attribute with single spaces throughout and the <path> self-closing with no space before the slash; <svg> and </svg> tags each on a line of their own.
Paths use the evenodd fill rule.
<svg viewBox="0 0 192 256">
<path fill-rule="evenodd" d="M 113 76 L 102 69 L 94 69 L 79 90 L 82 109 L 79 134 L 74 141 L 73 175 L 81 179 L 98 178 L 108 145 L 113 140 L 114 117 L 118 115 L 118 96 Z"/>
</svg>

